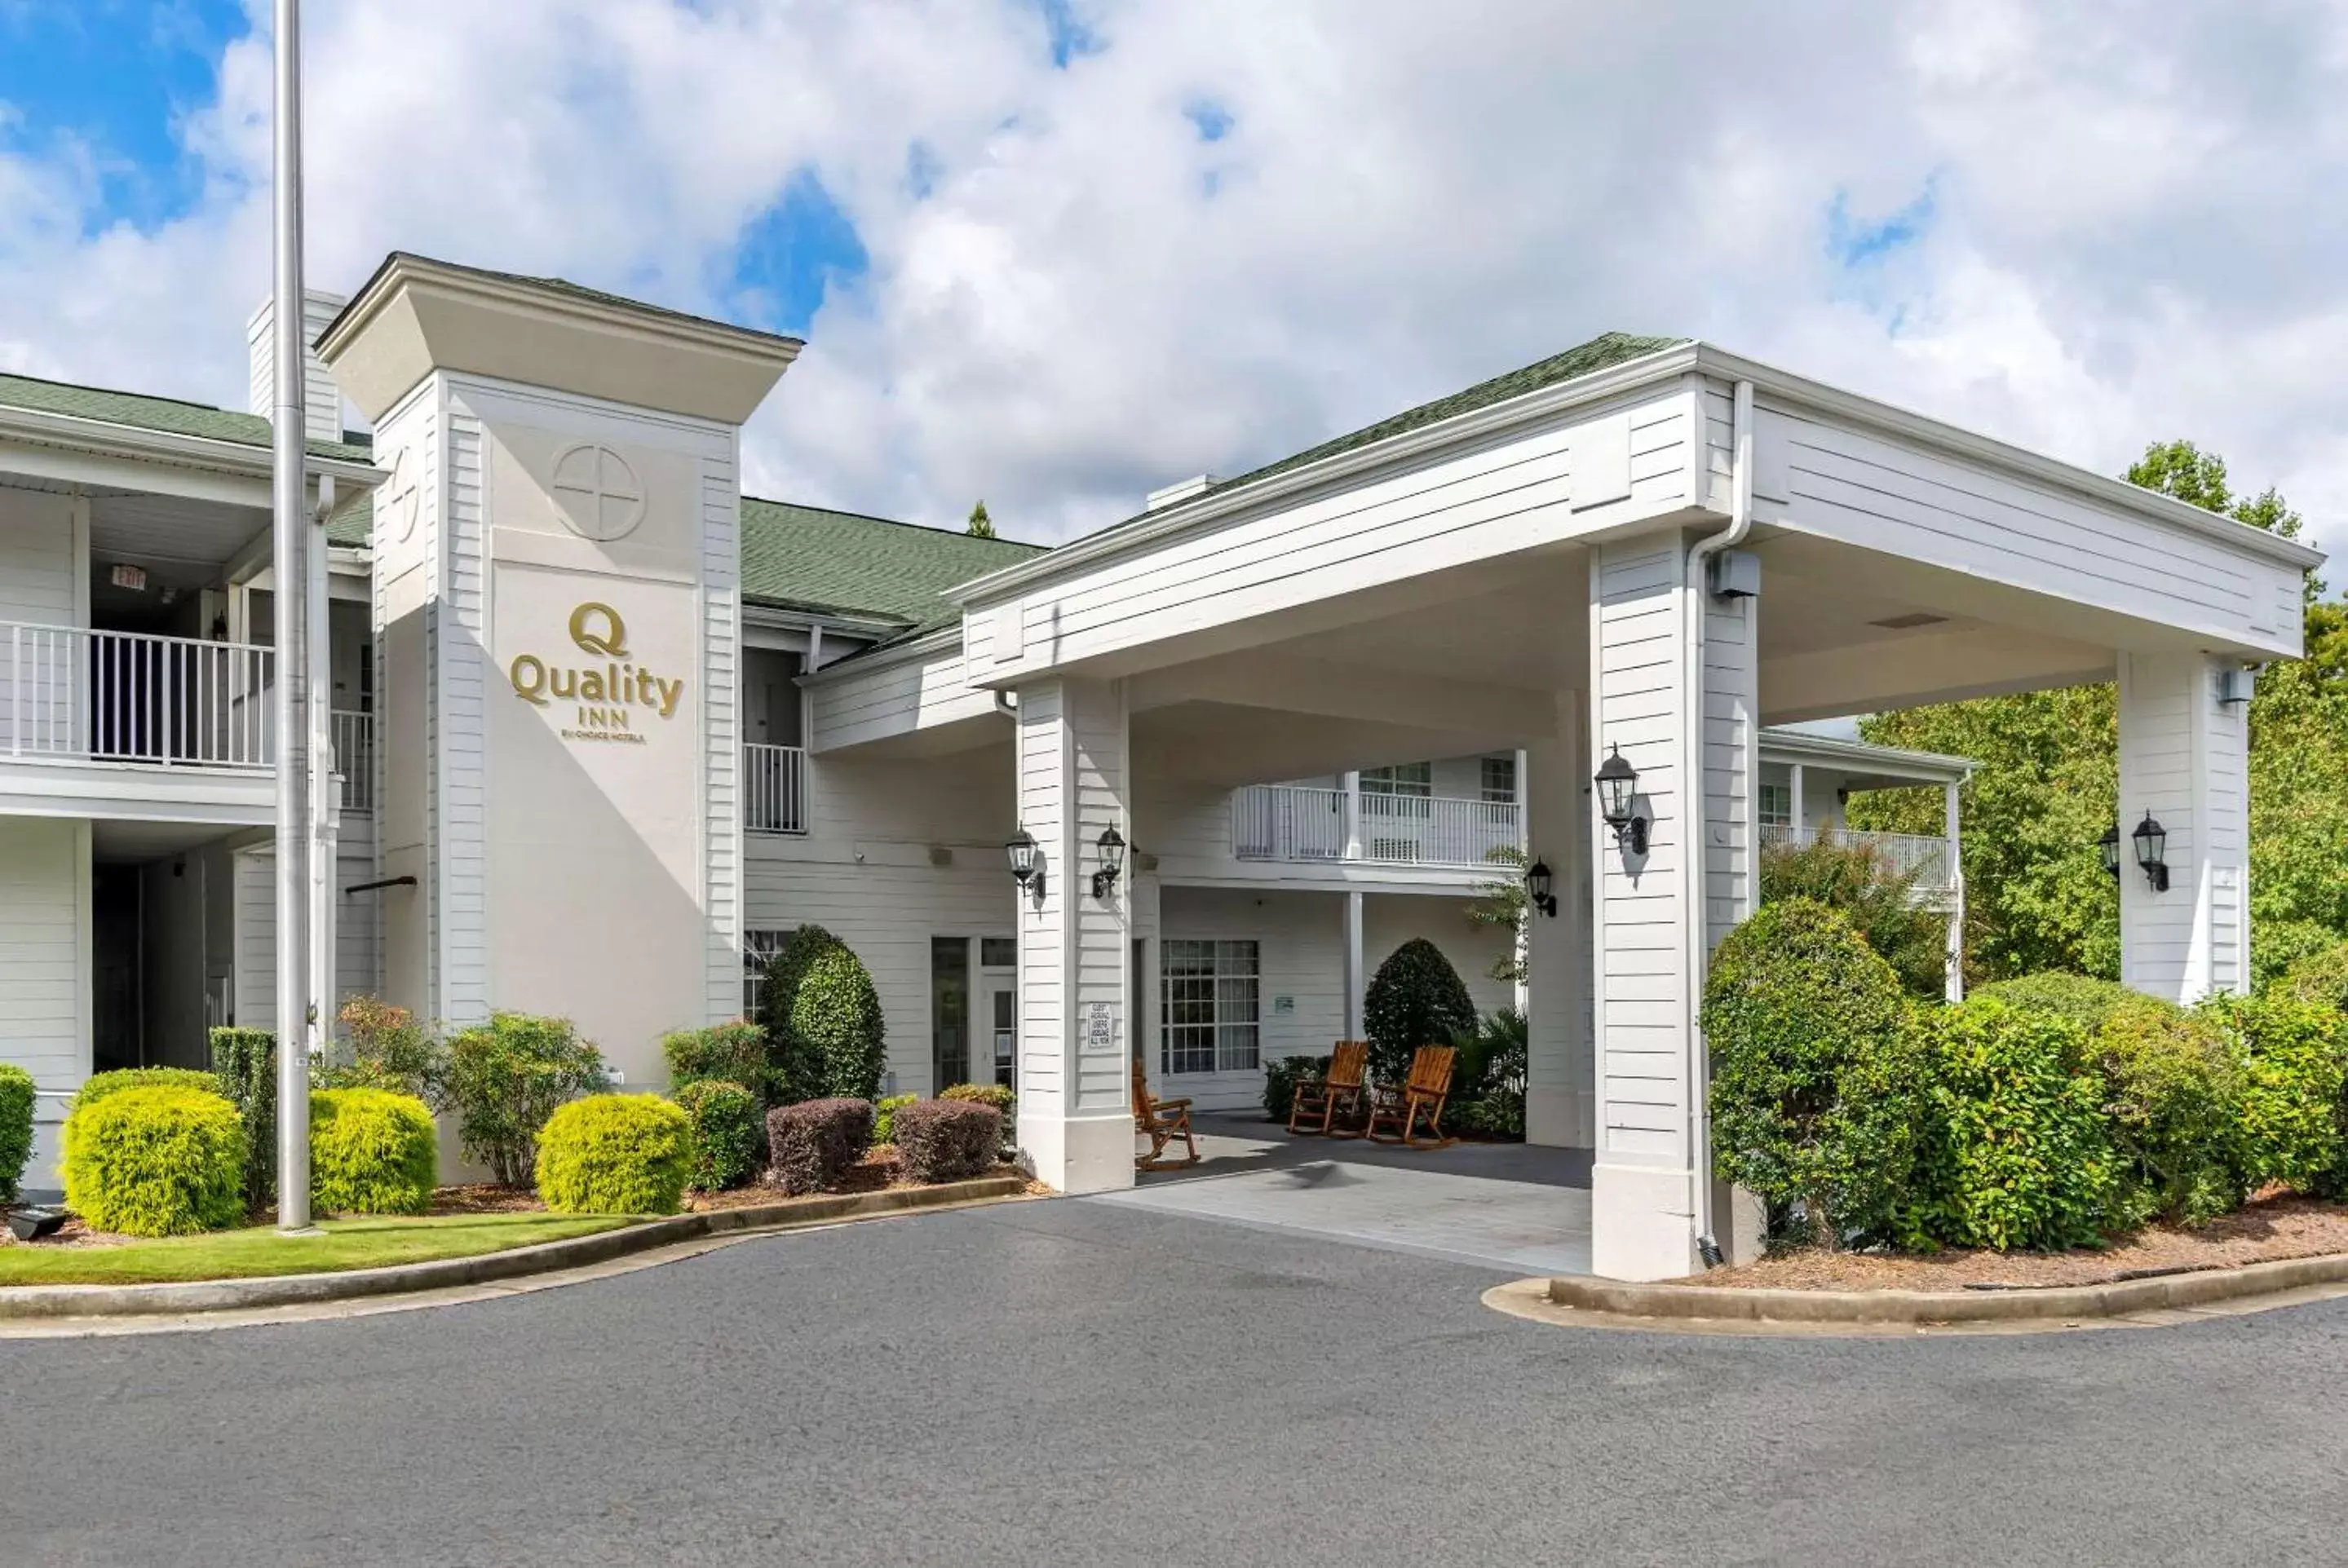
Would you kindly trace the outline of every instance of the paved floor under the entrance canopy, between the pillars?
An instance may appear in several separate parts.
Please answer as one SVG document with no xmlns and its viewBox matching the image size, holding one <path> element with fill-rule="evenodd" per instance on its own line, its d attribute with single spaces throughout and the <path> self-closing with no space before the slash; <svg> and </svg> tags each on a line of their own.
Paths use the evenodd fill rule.
<svg viewBox="0 0 2348 1568">
<path fill-rule="evenodd" d="M 1205 1160 L 1085 1202 L 1296 1230 L 1517 1275 L 1590 1272 L 1590 1153 L 1524 1143 L 1411 1150 L 1197 1117 Z"/>
</svg>

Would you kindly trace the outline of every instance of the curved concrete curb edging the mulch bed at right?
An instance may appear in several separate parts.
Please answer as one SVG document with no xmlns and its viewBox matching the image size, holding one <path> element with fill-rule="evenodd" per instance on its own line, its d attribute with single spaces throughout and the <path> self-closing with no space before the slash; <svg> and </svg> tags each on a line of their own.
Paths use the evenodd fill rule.
<svg viewBox="0 0 2348 1568">
<path fill-rule="evenodd" d="M 2348 1279 L 2348 1253 L 2278 1258 L 2113 1284 L 2015 1291 L 1761 1291 L 1707 1284 L 1625 1284 L 1592 1275 L 1550 1279 L 1559 1307 L 1646 1319 L 1749 1324 L 2017 1324 L 2078 1322 L 2202 1307 Z"/>
</svg>

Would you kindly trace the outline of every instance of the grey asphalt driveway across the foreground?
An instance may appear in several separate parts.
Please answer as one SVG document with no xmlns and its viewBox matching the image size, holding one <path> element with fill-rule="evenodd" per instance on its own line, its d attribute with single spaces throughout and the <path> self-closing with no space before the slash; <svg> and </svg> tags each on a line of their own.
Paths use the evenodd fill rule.
<svg viewBox="0 0 2348 1568">
<path fill-rule="evenodd" d="M 1655 1338 L 1089 1202 L 463 1307 L 0 1343 L 21 1563 L 2341 1561 L 2348 1300 Z"/>
</svg>

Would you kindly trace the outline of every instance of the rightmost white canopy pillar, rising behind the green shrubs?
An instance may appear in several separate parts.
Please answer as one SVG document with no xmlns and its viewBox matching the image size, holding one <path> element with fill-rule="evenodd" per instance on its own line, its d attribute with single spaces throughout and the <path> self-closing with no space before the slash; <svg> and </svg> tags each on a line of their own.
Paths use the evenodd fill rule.
<svg viewBox="0 0 2348 1568">
<path fill-rule="evenodd" d="M 2249 704 L 2219 702 L 2228 667 L 2120 655 L 2120 979 L 2174 1002 L 2249 988 Z M 2165 892 L 2137 866 L 2146 815 Z"/>
</svg>

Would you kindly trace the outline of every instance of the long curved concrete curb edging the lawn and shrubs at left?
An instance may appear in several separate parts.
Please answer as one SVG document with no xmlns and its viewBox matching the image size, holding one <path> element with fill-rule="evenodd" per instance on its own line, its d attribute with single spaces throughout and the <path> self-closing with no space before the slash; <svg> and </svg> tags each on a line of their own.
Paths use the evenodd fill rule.
<svg viewBox="0 0 2348 1568">
<path fill-rule="evenodd" d="M 439 1258 L 432 1263 L 397 1263 L 392 1268 L 355 1268 L 333 1275 L 275 1275 L 265 1279 L 197 1279 L 185 1284 L 16 1284 L 0 1289 L 0 1322 L 35 1317 L 146 1317 L 185 1312 L 242 1312 L 251 1307 L 286 1307 L 359 1296 L 406 1296 L 451 1286 L 521 1279 L 566 1268 L 587 1268 L 627 1253 L 672 1246 L 697 1237 L 744 1230 L 791 1230 L 838 1221 L 939 1209 L 1026 1192 L 1021 1176 L 979 1176 L 937 1188 L 888 1188 L 883 1192 L 841 1192 L 796 1197 L 744 1209 L 679 1214 L 601 1230 L 568 1242 L 540 1242 L 479 1258 Z"/>
</svg>

